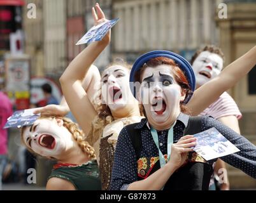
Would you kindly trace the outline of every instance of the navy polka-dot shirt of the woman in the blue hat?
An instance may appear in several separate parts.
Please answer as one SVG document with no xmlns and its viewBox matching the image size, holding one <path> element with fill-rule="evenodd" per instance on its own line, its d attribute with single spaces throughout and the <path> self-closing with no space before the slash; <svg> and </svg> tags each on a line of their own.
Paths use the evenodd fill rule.
<svg viewBox="0 0 256 203">
<path fill-rule="evenodd" d="M 183 131 L 187 127 L 188 119 L 189 116 L 182 113 L 178 116 L 174 126 L 174 143 L 180 140 L 181 136 L 183 136 Z M 227 155 L 220 159 L 241 169 L 253 178 L 256 178 L 256 147 L 250 143 L 250 141 L 246 140 L 246 138 L 232 131 L 232 129 L 221 122 L 216 121 L 211 117 L 203 117 L 201 121 L 201 131 L 213 127 L 241 150 L 236 154 Z M 154 164 L 159 162 L 159 152 L 153 141 L 147 120 L 141 120 L 135 129 L 138 129 L 141 134 L 143 146 L 141 148 L 141 159 L 136 160 L 136 154 L 131 143 L 131 138 L 127 133 L 127 129 L 123 128 L 118 137 L 115 150 L 110 190 L 126 190 L 129 184 L 140 180 L 139 177 L 147 178 L 148 175 L 150 175 Z M 158 132 L 159 148 L 162 151 L 162 154 L 167 154 L 167 133 L 167 130 Z M 194 160 L 198 162 L 201 161 L 197 156 L 194 157 Z M 213 162 L 215 162 L 215 160 L 210 160 L 207 164 L 211 166 Z M 143 174 L 140 173 L 141 169 L 144 171 Z M 197 176 L 203 176 L 203 174 L 197 174 Z M 200 177 L 194 178 L 196 179 Z"/>
</svg>

